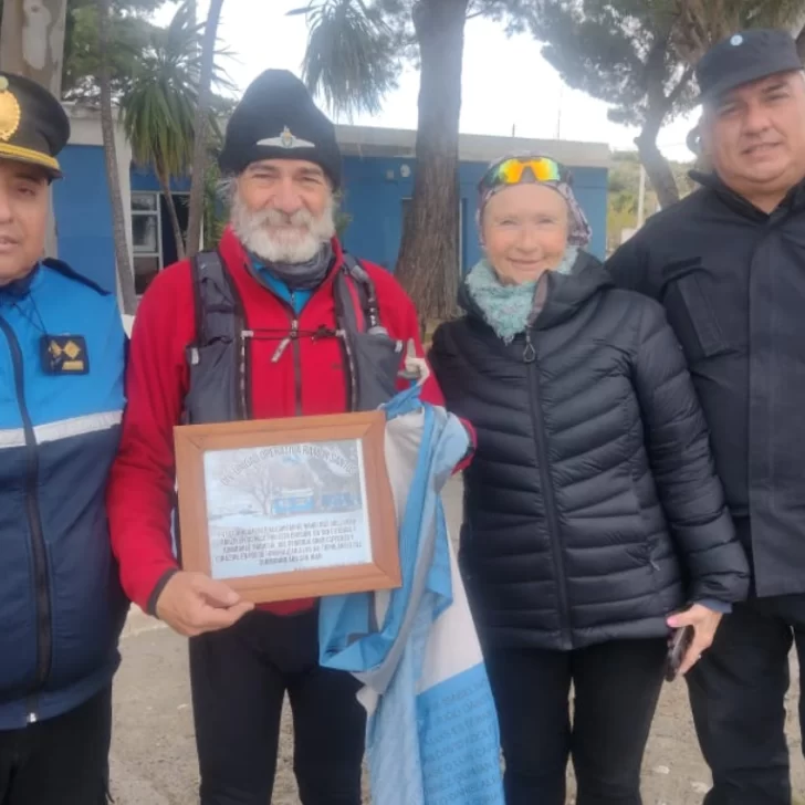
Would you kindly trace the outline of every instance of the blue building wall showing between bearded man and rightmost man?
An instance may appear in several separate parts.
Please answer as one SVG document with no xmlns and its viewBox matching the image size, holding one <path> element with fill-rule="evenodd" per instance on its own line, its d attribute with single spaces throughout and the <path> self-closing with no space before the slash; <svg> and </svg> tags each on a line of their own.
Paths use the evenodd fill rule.
<svg viewBox="0 0 805 805">
<path fill-rule="evenodd" d="M 411 175 L 404 178 L 407 165 Z M 402 236 L 402 200 L 414 192 L 412 159 L 346 157 L 344 203 L 352 216 L 344 242 L 355 254 L 393 269 Z M 462 212 L 462 268 L 467 271 L 481 257 L 475 230 L 475 188 L 485 164 L 463 163 L 459 169 Z M 607 170 L 573 169 L 578 202 L 593 227 L 590 251 L 604 258 L 606 249 Z"/>
</svg>

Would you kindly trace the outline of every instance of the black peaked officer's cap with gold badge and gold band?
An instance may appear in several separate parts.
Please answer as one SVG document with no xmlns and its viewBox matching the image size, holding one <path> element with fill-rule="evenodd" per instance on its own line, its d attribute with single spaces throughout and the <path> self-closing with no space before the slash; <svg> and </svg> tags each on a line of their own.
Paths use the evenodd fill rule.
<svg viewBox="0 0 805 805">
<path fill-rule="evenodd" d="M 40 165 L 62 175 L 56 156 L 70 139 L 70 119 L 36 82 L 0 72 L 0 159 Z"/>
</svg>

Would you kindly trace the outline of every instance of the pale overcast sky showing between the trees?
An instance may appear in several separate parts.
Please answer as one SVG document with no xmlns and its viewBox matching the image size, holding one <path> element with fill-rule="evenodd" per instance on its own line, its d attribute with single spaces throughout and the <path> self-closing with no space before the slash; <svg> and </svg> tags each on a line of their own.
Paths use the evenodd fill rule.
<svg viewBox="0 0 805 805">
<path fill-rule="evenodd" d="M 199 18 L 207 0 L 199 0 Z M 220 36 L 236 54 L 226 65 L 240 90 L 268 67 L 300 73 L 307 30 L 304 17 L 286 17 L 306 0 L 226 0 Z M 166 7 L 158 21 L 170 19 Z M 461 130 L 468 134 L 575 139 L 634 148 L 634 129 L 607 119 L 607 105 L 584 93 L 563 87 L 558 74 L 540 55 L 540 45 L 526 35 L 508 38 L 488 20 L 467 24 L 462 81 Z M 386 98 L 377 116 L 362 115 L 353 123 L 416 128 L 419 75 L 407 71 L 397 92 Z M 349 121 L 339 121 L 348 123 Z M 693 118 L 667 126 L 659 137 L 666 156 L 691 159 L 684 145 Z"/>
</svg>

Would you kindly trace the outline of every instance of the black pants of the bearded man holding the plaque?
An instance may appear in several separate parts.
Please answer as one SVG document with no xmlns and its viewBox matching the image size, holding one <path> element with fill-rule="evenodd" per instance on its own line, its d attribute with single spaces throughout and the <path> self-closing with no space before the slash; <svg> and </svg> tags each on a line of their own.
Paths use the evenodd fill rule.
<svg viewBox="0 0 805 805">
<path fill-rule="evenodd" d="M 317 623 L 315 610 L 254 611 L 190 640 L 201 805 L 271 802 L 285 692 L 302 804 L 360 805 L 360 684 L 320 667 Z"/>
</svg>

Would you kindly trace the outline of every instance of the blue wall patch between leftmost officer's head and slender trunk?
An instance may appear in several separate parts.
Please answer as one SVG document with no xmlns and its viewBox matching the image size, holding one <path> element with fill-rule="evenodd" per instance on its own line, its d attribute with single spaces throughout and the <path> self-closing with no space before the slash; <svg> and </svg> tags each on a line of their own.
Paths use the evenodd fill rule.
<svg viewBox="0 0 805 805">
<path fill-rule="evenodd" d="M 115 243 L 101 146 L 69 145 L 64 178 L 53 184 L 59 257 L 107 291 L 115 290 Z"/>
</svg>

